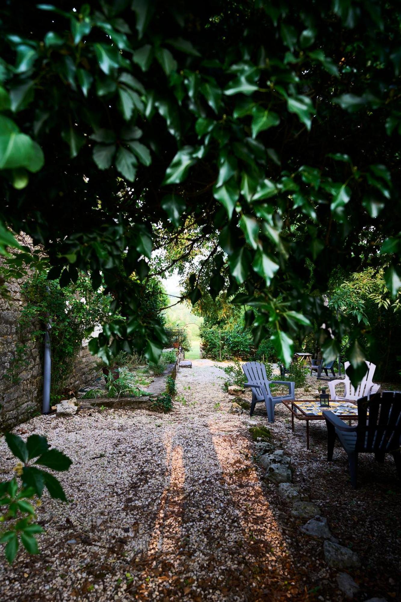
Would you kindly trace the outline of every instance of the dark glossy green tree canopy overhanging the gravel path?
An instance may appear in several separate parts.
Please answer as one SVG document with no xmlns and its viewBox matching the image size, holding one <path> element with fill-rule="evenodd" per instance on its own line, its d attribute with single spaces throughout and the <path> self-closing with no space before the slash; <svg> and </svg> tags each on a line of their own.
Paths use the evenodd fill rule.
<svg viewBox="0 0 401 602">
<path fill-rule="evenodd" d="M 91 344 L 106 361 L 144 338 L 148 358 L 160 352 L 140 299 L 152 250 L 177 232 L 208 249 L 188 298 L 207 272 L 208 294 L 249 306 L 256 343 L 269 326 L 286 362 L 312 318 L 325 358 L 338 355 L 346 322 L 322 294 L 339 268 L 384 267 L 397 294 L 391 2 L 25 0 L 2 4 L 0 29 L 0 220 L 43 245 L 49 278 L 104 278 L 121 315 Z"/>
</svg>

